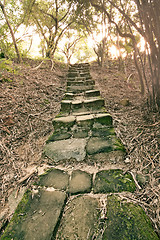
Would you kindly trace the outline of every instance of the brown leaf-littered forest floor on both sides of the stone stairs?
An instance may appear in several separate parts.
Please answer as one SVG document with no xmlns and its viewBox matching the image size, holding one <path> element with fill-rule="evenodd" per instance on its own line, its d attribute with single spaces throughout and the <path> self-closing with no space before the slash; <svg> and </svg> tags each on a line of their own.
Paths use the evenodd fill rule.
<svg viewBox="0 0 160 240">
<path fill-rule="evenodd" d="M 38 168 L 48 164 L 42 151 L 60 110 L 67 67 L 55 63 L 51 71 L 46 60 L 37 69 L 39 63 L 29 59 L 14 63 L 14 74 L 0 76 L 0 227 L 10 218 L 7 202 L 13 190 L 17 198 L 23 186 L 35 181 Z M 109 65 L 93 63 L 91 75 L 126 148 L 128 170 L 140 182 L 130 200 L 144 208 L 160 233 L 159 115 L 147 110 L 134 65 L 128 65 L 125 74 L 116 62 Z"/>
</svg>

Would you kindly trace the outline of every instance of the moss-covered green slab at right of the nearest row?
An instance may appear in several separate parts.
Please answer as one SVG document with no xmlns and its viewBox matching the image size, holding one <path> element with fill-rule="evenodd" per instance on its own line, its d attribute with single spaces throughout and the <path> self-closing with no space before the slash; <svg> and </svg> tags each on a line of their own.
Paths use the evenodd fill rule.
<svg viewBox="0 0 160 240">
<path fill-rule="evenodd" d="M 103 240 L 158 240 L 144 210 L 122 201 L 115 195 L 108 196 L 106 229 Z"/>
</svg>

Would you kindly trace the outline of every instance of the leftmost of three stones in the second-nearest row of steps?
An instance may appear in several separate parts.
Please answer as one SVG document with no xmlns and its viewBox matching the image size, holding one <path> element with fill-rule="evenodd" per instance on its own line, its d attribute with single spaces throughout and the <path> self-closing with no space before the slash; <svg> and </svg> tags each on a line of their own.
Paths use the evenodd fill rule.
<svg viewBox="0 0 160 240">
<path fill-rule="evenodd" d="M 69 184 L 69 175 L 56 168 L 48 170 L 45 174 L 39 176 L 38 185 L 53 187 L 58 190 L 66 190 Z"/>
</svg>

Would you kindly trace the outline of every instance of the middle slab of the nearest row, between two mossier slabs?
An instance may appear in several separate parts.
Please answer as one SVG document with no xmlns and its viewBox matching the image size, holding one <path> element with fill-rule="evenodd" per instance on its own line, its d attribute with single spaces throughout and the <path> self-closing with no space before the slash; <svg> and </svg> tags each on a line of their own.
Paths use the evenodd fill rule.
<svg viewBox="0 0 160 240">
<path fill-rule="evenodd" d="M 57 239 L 94 239 L 99 219 L 99 201 L 89 196 L 79 196 L 70 201 L 57 233 Z"/>
</svg>

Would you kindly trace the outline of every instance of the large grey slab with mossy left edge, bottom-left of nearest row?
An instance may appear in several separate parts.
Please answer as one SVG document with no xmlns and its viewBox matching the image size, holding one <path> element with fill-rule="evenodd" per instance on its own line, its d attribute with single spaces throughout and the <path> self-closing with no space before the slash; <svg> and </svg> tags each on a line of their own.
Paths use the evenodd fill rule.
<svg viewBox="0 0 160 240">
<path fill-rule="evenodd" d="M 40 190 L 33 195 L 27 192 L 18 205 L 1 240 L 48 240 L 51 239 L 66 194 L 60 191 Z"/>
</svg>

